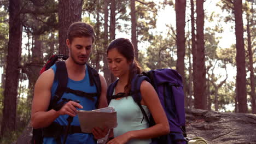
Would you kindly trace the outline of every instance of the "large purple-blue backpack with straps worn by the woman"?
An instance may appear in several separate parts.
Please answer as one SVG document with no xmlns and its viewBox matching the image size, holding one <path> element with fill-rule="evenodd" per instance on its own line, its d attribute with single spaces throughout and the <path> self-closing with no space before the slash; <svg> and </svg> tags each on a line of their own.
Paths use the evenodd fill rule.
<svg viewBox="0 0 256 144">
<path fill-rule="evenodd" d="M 143 116 L 149 122 L 150 127 L 155 124 L 154 119 L 152 116 L 149 118 L 147 117 L 146 112 L 140 103 L 142 99 L 140 87 L 143 80 L 147 80 L 155 88 L 170 125 L 170 133 L 168 135 L 159 136 L 152 139 L 151 144 L 187 143 L 187 140 L 184 138 L 187 135 L 185 134 L 184 92 L 181 75 L 179 75 L 177 71 L 173 69 L 156 69 L 143 72 L 142 74 L 133 77 L 130 95 L 132 95 L 133 100 L 138 104 Z M 118 80 L 111 83 L 108 87 L 108 103 L 110 103 L 111 99 L 117 98 L 115 95 L 113 95 L 117 82 Z"/>
</svg>

